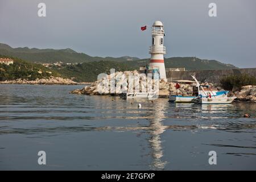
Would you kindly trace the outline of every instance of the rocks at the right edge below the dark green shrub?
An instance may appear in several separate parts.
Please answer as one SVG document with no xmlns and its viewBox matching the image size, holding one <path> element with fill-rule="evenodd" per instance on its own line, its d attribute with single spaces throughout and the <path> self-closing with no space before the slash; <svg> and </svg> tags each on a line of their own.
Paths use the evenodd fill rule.
<svg viewBox="0 0 256 182">
<path fill-rule="evenodd" d="M 238 102 L 256 103 L 256 85 L 242 86 L 239 90 L 233 90 L 229 96 L 236 96 Z"/>
</svg>

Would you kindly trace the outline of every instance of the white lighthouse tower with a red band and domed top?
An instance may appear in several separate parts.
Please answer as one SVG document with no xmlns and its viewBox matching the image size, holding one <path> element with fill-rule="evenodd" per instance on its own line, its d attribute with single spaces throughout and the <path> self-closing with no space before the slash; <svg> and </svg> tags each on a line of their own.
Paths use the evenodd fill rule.
<svg viewBox="0 0 256 182">
<path fill-rule="evenodd" d="M 160 79 L 166 80 L 166 68 L 164 67 L 164 57 L 166 47 L 163 46 L 163 23 L 155 21 L 152 25 L 152 46 L 150 46 L 150 67 L 159 68 Z"/>
</svg>

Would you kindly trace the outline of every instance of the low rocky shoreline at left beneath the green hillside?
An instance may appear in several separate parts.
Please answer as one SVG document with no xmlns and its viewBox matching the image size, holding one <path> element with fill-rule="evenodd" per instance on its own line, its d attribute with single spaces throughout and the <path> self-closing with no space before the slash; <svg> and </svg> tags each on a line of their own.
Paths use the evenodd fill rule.
<svg viewBox="0 0 256 182">
<path fill-rule="evenodd" d="M 61 77 L 49 77 L 36 80 L 6 80 L 0 81 L 0 84 L 31 84 L 31 85 L 77 85 L 77 82 L 72 81 L 68 78 Z"/>
</svg>

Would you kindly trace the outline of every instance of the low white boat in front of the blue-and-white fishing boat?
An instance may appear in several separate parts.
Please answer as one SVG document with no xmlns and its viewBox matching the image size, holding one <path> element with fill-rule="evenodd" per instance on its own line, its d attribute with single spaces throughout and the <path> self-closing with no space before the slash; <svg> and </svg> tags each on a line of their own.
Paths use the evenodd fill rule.
<svg viewBox="0 0 256 182">
<path fill-rule="evenodd" d="M 223 98 L 193 98 L 193 102 L 196 104 L 230 104 L 237 98 L 236 96 L 233 97 L 223 97 Z"/>
</svg>

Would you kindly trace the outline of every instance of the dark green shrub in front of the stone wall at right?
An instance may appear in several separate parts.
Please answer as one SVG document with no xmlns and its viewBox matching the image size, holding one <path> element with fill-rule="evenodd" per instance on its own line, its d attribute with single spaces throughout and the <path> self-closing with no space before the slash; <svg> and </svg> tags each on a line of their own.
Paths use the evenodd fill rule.
<svg viewBox="0 0 256 182">
<path fill-rule="evenodd" d="M 220 84 L 225 90 L 232 90 L 233 87 L 241 88 L 245 85 L 256 85 L 256 78 L 247 74 L 230 75 L 222 77 Z"/>
</svg>

